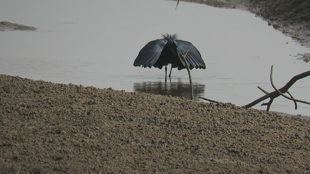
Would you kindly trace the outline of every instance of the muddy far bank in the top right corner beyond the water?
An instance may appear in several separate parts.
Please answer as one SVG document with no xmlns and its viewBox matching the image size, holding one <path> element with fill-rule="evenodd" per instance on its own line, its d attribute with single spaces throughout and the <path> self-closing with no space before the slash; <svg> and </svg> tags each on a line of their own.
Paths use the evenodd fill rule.
<svg viewBox="0 0 310 174">
<path fill-rule="evenodd" d="M 309 0 L 185 0 L 220 8 L 250 11 L 268 25 L 292 37 L 301 45 L 310 47 Z"/>
</svg>

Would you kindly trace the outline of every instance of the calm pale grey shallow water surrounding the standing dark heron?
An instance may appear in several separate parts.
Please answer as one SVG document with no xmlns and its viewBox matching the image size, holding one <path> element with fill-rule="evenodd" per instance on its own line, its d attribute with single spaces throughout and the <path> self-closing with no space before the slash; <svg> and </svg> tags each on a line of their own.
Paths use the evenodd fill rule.
<svg viewBox="0 0 310 174">
<path fill-rule="evenodd" d="M 283 87 L 294 75 L 309 71 L 296 60 L 310 49 L 245 11 L 166 0 L 1 0 L 0 21 L 37 27 L 36 31 L 0 32 L 0 73 L 34 80 L 112 87 L 189 98 L 187 71 L 132 66 L 140 49 L 164 33 L 179 33 L 193 43 L 206 70 L 193 70 L 198 96 L 242 106 L 272 91 L 269 73 Z M 170 67 L 168 67 L 170 68 Z M 310 80 L 290 92 L 309 101 Z M 266 100 L 265 102 L 268 102 Z M 254 106 L 257 109 L 265 107 Z M 310 115 L 310 106 L 284 98 L 271 110 Z"/>
</svg>

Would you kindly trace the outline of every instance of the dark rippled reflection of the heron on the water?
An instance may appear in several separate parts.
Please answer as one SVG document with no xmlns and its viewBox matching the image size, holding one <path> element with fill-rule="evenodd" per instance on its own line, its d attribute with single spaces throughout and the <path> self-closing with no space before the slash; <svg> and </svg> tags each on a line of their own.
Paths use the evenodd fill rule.
<svg viewBox="0 0 310 174">
<path fill-rule="evenodd" d="M 193 88 L 194 100 L 201 101 L 199 97 L 204 96 L 205 85 L 201 83 L 193 83 Z M 165 82 L 136 82 L 134 83 L 134 91 L 191 99 L 190 84 L 188 82 L 182 82 L 181 79 L 177 82 L 167 82 L 167 78 L 165 79 Z"/>
</svg>

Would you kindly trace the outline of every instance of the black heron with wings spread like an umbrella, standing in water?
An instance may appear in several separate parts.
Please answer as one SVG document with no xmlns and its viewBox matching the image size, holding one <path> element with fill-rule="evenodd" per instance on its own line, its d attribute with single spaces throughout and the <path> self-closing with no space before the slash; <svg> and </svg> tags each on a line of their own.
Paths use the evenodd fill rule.
<svg viewBox="0 0 310 174">
<path fill-rule="evenodd" d="M 197 48 L 187 41 L 178 40 L 177 34 L 162 34 L 162 39 L 157 39 L 147 43 L 139 52 L 138 57 L 134 62 L 134 66 L 146 68 L 162 69 L 165 66 L 167 76 L 167 65 L 171 64 L 169 77 L 171 76 L 172 68 L 182 70 L 186 68 L 186 63 L 182 55 L 186 55 L 186 61 L 190 69 L 200 68 L 205 69 L 205 64 L 202 60 Z"/>
</svg>

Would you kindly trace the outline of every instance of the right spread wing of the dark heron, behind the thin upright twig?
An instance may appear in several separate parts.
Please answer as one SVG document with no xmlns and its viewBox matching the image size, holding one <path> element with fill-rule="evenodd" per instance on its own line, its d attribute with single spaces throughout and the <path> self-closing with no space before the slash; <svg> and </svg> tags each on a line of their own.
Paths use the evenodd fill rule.
<svg viewBox="0 0 310 174">
<path fill-rule="evenodd" d="M 174 41 L 174 43 L 176 45 L 176 51 L 178 52 L 180 61 L 184 66 L 186 66 L 186 64 L 182 55 L 185 55 L 186 51 L 188 50 L 188 53 L 186 55 L 186 61 L 188 63 L 189 68 L 205 69 L 205 64 L 204 61 L 202 60 L 202 56 L 200 55 L 197 48 L 194 45 L 192 45 L 192 43 L 183 40 L 176 40 Z"/>
</svg>

